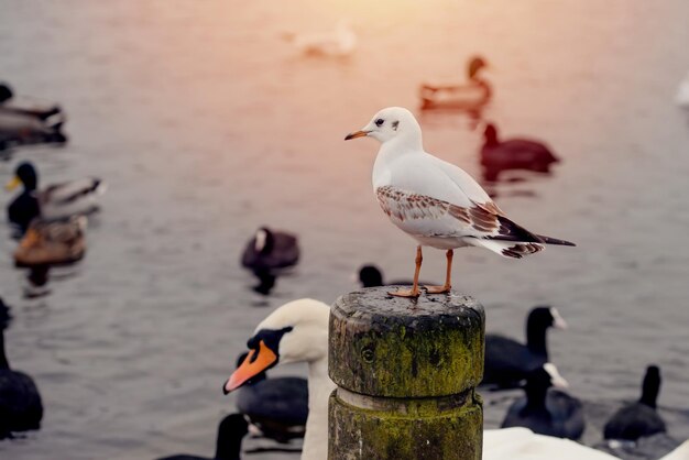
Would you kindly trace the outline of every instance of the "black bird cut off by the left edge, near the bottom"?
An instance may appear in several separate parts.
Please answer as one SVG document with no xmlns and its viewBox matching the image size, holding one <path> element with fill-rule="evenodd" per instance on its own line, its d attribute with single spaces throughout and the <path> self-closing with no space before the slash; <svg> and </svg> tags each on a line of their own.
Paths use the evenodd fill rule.
<svg viewBox="0 0 689 460">
<path fill-rule="evenodd" d="M 3 329 L 0 327 L 0 439 L 14 431 L 39 429 L 43 418 L 43 403 L 33 379 L 10 369 Z"/>
</svg>

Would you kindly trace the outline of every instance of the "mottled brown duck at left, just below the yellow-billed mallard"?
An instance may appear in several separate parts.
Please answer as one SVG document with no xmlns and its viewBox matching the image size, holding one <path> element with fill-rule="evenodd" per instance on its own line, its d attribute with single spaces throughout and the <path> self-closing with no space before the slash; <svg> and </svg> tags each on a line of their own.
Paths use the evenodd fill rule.
<svg viewBox="0 0 689 460">
<path fill-rule="evenodd" d="M 17 266 L 67 265 L 86 252 L 86 218 L 68 221 L 34 220 L 14 251 Z"/>
</svg>

